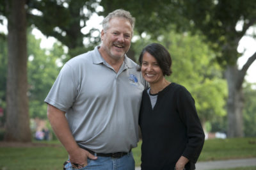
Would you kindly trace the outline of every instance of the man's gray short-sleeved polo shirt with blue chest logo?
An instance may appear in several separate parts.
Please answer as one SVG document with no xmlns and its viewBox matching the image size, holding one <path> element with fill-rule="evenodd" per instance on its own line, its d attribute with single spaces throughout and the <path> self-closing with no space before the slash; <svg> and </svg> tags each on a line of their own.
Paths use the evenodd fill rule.
<svg viewBox="0 0 256 170">
<path fill-rule="evenodd" d="M 45 102 L 66 112 L 78 144 L 97 153 L 129 151 L 138 143 L 138 114 L 147 83 L 125 56 L 118 73 L 98 47 L 70 59 Z"/>
</svg>

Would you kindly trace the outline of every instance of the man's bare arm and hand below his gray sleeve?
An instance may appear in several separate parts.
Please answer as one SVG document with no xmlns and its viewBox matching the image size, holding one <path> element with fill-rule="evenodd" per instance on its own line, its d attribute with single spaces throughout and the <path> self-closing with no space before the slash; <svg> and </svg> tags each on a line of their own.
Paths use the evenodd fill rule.
<svg viewBox="0 0 256 170">
<path fill-rule="evenodd" d="M 67 150 L 72 164 L 78 164 L 76 167 L 81 168 L 87 166 L 87 157 L 97 159 L 88 151 L 79 148 L 68 126 L 65 112 L 48 104 L 47 117 L 51 123 L 52 130 Z"/>
</svg>

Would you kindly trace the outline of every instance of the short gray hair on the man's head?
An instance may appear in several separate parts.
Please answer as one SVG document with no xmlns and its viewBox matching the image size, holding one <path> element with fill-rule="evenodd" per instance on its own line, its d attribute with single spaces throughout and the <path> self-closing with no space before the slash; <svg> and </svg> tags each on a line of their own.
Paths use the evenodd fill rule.
<svg viewBox="0 0 256 170">
<path fill-rule="evenodd" d="M 104 32 L 106 32 L 109 29 L 109 25 L 108 25 L 109 20 L 111 20 L 115 17 L 123 17 L 124 19 L 129 20 L 129 22 L 131 23 L 132 32 L 133 32 L 134 25 L 135 25 L 135 18 L 132 17 L 130 12 L 127 12 L 122 9 L 115 10 L 115 11 L 109 13 L 108 16 L 104 18 L 104 20 L 102 21 L 102 27 L 103 27 Z"/>
</svg>

